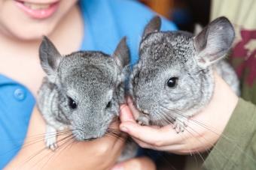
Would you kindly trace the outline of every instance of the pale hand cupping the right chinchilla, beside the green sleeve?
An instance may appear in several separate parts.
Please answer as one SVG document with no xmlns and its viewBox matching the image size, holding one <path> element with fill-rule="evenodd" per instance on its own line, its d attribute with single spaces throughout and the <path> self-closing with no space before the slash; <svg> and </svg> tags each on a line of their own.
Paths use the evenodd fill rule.
<svg viewBox="0 0 256 170">
<path fill-rule="evenodd" d="M 128 106 L 121 108 L 120 130 L 129 133 L 142 148 L 169 151 L 175 154 L 207 151 L 220 138 L 237 101 L 236 94 L 215 73 L 215 91 L 212 100 L 203 111 L 189 119 L 183 133 L 176 133 L 172 124 L 166 127 L 137 124 L 133 115 L 138 115 L 139 111 L 130 99 L 128 99 Z"/>
</svg>

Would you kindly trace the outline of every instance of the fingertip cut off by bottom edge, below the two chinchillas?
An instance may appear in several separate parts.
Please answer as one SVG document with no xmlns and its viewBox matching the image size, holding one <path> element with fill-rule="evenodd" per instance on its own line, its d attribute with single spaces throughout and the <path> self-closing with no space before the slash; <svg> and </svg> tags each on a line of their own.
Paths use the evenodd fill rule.
<svg viewBox="0 0 256 170">
<path fill-rule="evenodd" d="M 133 158 L 126 160 L 122 163 L 118 163 L 111 170 L 155 170 L 156 166 L 154 162 L 148 157 Z"/>
</svg>

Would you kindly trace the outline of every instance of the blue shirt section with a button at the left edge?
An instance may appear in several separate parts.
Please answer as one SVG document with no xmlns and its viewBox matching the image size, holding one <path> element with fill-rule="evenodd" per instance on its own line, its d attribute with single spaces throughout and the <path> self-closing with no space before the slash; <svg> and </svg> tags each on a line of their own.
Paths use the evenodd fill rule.
<svg viewBox="0 0 256 170">
<path fill-rule="evenodd" d="M 34 105 L 27 88 L 0 74 L 0 169 L 20 151 Z"/>
</svg>

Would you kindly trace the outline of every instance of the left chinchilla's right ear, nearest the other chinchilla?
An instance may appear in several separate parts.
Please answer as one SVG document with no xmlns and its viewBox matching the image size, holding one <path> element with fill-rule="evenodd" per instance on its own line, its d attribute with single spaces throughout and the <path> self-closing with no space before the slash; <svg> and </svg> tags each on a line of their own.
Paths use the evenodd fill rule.
<svg viewBox="0 0 256 170">
<path fill-rule="evenodd" d="M 113 58 L 120 69 L 130 63 L 130 50 L 126 43 L 126 37 L 123 37 L 118 43 L 117 48 L 114 50 Z"/>
</svg>

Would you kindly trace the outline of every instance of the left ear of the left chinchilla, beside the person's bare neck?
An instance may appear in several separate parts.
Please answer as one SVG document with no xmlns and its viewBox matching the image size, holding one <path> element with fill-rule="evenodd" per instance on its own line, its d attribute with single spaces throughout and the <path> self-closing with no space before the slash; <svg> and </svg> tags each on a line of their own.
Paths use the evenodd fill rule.
<svg viewBox="0 0 256 170">
<path fill-rule="evenodd" d="M 47 73 L 50 80 L 54 80 L 56 78 L 56 70 L 59 66 L 61 55 L 53 43 L 45 36 L 39 47 L 39 57 L 44 72 Z"/>
</svg>

